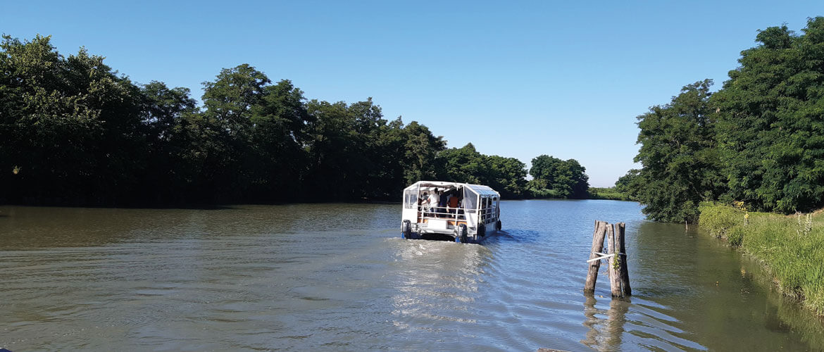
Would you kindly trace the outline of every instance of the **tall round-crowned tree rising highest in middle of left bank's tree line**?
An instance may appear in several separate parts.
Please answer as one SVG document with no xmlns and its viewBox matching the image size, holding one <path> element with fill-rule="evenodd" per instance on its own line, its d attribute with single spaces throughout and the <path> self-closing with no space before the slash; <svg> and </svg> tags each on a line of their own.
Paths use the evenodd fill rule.
<svg viewBox="0 0 824 352">
<path fill-rule="evenodd" d="M 292 82 L 270 84 L 269 77 L 241 64 L 224 68 L 204 82 L 204 112 L 188 121 L 197 188 L 223 201 L 293 199 L 305 170 L 313 120 L 303 93 Z"/>
</svg>

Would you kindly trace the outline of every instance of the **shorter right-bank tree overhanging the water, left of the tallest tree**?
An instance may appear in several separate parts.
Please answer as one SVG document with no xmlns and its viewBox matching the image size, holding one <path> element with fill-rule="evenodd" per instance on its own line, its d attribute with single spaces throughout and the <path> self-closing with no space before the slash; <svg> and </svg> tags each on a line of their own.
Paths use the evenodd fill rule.
<svg viewBox="0 0 824 352">
<path fill-rule="evenodd" d="M 705 80 L 683 87 L 669 104 L 638 116 L 641 148 L 635 162 L 644 167 L 620 181 L 646 205 L 644 214 L 653 220 L 695 222 L 700 201 L 723 193 L 711 84 Z"/>
</svg>

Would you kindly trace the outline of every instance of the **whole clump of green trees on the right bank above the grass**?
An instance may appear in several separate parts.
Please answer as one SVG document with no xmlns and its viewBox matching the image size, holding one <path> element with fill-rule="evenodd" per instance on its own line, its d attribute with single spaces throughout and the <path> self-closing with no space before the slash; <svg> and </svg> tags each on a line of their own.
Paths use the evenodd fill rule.
<svg viewBox="0 0 824 352">
<path fill-rule="evenodd" d="M 695 222 L 702 201 L 808 212 L 824 206 L 824 17 L 759 31 L 728 81 L 687 85 L 638 116 L 641 145 L 616 182 L 649 218 Z"/>
</svg>

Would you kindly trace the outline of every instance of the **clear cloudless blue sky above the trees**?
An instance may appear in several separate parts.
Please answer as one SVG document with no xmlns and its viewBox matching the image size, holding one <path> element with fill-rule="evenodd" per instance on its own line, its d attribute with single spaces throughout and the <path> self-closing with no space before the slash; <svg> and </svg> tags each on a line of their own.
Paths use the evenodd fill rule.
<svg viewBox="0 0 824 352">
<path fill-rule="evenodd" d="M 250 63 L 309 99 L 372 96 L 480 153 L 574 158 L 611 186 L 638 151 L 635 117 L 737 67 L 756 33 L 799 31 L 824 2 L 23 2 L 0 31 L 85 46 L 133 79 L 189 87 Z"/>
</svg>

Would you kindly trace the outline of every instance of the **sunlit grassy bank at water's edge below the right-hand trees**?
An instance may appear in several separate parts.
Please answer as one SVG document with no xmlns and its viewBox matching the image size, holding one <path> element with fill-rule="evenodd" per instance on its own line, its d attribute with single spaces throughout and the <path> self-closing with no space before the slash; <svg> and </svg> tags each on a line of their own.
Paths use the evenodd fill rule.
<svg viewBox="0 0 824 352">
<path fill-rule="evenodd" d="M 824 316 L 824 212 L 785 216 L 702 204 L 699 225 L 762 260 L 782 292 Z"/>
</svg>

